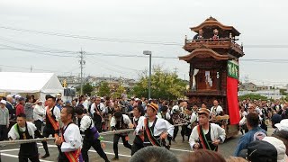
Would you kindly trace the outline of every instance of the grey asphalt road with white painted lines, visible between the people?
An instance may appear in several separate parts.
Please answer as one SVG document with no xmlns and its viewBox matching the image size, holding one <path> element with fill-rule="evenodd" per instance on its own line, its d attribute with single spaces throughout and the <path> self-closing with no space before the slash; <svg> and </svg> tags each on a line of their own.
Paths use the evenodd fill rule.
<svg viewBox="0 0 288 162">
<path fill-rule="evenodd" d="M 273 131 L 272 128 L 268 128 L 268 135 L 271 135 L 271 132 Z M 233 152 L 238 144 L 238 139 L 241 136 L 239 133 L 238 136 L 235 136 L 231 139 L 227 139 L 223 144 L 220 145 L 219 152 L 224 157 L 229 157 L 233 155 Z M 106 135 L 104 136 L 106 148 L 104 149 L 107 157 L 111 159 L 114 157 L 113 149 L 112 149 L 112 135 Z M 134 136 L 132 133 L 130 133 L 130 143 L 132 143 L 132 140 L 134 139 Z M 120 139 L 121 142 L 121 139 Z M 121 143 L 118 145 L 119 147 L 119 162 L 127 162 L 130 159 L 130 149 L 125 148 Z M 191 148 L 188 144 L 187 138 L 184 142 L 182 142 L 182 137 L 180 134 L 180 129 L 178 132 L 178 135 L 175 139 L 175 142 L 172 142 L 172 146 L 170 149 L 176 157 L 179 159 L 191 151 Z M 5 147 L 0 148 L 1 151 L 1 160 L 2 162 L 18 162 L 18 152 L 19 152 L 19 146 L 18 145 L 7 145 Z M 40 156 L 44 155 L 44 149 L 42 148 L 41 143 L 39 143 L 39 152 Z M 50 157 L 47 157 L 45 159 L 41 159 L 40 161 L 43 162 L 51 162 L 51 161 L 57 161 L 58 157 L 58 149 L 56 148 L 56 145 L 53 144 L 53 142 L 49 142 L 49 154 Z M 103 161 L 101 157 L 98 156 L 98 154 L 95 152 L 94 148 L 91 148 L 89 150 L 89 159 L 93 162 L 100 162 Z"/>
</svg>

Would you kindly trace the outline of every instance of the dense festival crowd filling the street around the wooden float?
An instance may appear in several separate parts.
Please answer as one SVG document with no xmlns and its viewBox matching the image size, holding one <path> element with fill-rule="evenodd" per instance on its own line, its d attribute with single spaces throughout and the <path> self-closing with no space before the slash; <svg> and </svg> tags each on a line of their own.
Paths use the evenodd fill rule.
<svg viewBox="0 0 288 162">
<path fill-rule="evenodd" d="M 104 161 L 119 160 L 121 139 L 130 149 L 131 162 L 149 161 L 288 161 L 288 102 L 239 101 L 242 133 L 233 157 L 224 158 L 218 152 L 226 139 L 229 118 L 219 101 L 211 107 L 205 103 L 191 105 L 187 101 L 154 100 L 125 95 L 121 98 L 77 96 L 63 102 L 62 94 L 47 94 L 45 101 L 33 95 L 8 94 L 0 97 L 0 141 L 55 138 L 58 161 L 89 161 L 92 147 Z M 228 116 L 228 115 L 227 115 Z M 268 128 L 274 130 L 267 136 Z M 108 159 L 103 149 L 103 132 L 113 131 L 114 157 Z M 135 138 L 129 140 L 129 131 Z M 180 131 L 182 141 L 188 141 L 192 152 L 181 159 L 170 146 Z M 47 141 L 41 141 L 45 155 L 40 156 L 36 142 L 20 145 L 19 161 L 40 161 L 49 157 Z M 4 145 L 1 145 L 4 147 Z"/>
</svg>

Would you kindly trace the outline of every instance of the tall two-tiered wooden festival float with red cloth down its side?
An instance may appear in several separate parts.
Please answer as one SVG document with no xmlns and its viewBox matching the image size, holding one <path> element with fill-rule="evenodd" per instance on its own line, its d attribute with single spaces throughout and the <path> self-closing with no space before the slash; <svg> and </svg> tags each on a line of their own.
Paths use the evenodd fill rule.
<svg viewBox="0 0 288 162">
<path fill-rule="evenodd" d="M 183 47 L 189 54 L 179 57 L 190 64 L 185 95 L 190 105 L 205 103 L 209 109 L 218 100 L 224 114 L 217 116 L 217 122 L 229 138 L 238 134 L 238 58 L 244 56 L 243 46 L 236 42 L 240 32 L 212 17 L 191 31 L 197 34 L 193 40 L 186 37 Z"/>
</svg>

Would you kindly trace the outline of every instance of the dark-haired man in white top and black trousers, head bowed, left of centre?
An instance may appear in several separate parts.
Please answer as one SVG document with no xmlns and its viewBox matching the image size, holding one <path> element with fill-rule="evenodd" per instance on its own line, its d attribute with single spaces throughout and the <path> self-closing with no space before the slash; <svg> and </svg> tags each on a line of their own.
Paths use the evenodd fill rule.
<svg viewBox="0 0 288 162">
<path fill-rule="evenodd" d="M 130 121 L 129 116 L 127 116 L 126 114 L 122 114 L 121 112 L 114 112 L 114 116 L 111 119 L 110 126 L 111 126 L 112 131 L 113 130 L 125 130 L 128 128 L 133 128 L 133 124 Z M 120 133 L 120 134 L 114 134 L 113 150 L 115 153 L 115 157 L 112 158 L 112 161 L 119 159 L 118 141 L 120 138 L 122 139 L 124 147 L 131 149 L 131 145 L 128 143 L 129 137 L 128 137 L 127 132 Z"/>
</svg>

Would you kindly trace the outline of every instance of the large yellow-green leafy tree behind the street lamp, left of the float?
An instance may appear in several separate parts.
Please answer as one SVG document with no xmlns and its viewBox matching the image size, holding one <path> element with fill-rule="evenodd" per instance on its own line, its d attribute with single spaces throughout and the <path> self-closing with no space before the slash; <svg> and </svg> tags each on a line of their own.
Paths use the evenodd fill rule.
<svg viewBox="0 0 288 162">
<path fill-rule="evenodd" d="M 178 78 L 175 73 L 169 73 L 154 67 L 151 75 L 151 97 L 161 99 L 177 99 L 184 97 L 185 82 Z M 133 87 L 136 96 L 148 96 L 148 76 L 142 75 Z"/>
</svg>

